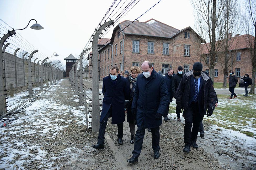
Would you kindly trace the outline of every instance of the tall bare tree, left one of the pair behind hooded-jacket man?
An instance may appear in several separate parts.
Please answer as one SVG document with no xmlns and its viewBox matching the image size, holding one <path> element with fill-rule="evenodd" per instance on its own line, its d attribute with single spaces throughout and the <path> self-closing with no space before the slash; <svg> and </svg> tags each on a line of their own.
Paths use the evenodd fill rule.
<svg viewBox="0 0 256 170">
<path fill-rule="evenodd" d="M 226 0 L 192 0 L 192 5 L 195 13 L 195 30 L 204 41 L 203 44 L 197 43 L 198 52 L 201 60 L 209 67 L 209 75 L 214 81 L 214 67 L 224 34 L 222 13 Z"/>
</svg>

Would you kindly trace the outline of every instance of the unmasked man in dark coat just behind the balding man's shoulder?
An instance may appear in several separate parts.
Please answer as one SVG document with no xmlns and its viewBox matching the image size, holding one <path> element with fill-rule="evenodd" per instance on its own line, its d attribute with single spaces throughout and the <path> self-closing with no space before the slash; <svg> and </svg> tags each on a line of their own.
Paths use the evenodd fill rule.
<svg viewBox="0 0 256 170">
<path fill-rule="evenodd" d="M 166 111 L 164 112 L 164 121 L 170 120 L 168 118 L 168 112 L 170 108 L 170 103 L 172 103 L 172 74 L 173 74 L 173 69 L 168 68 L 167 74 L 164 76 L 167 90 L 168 90 L 168 104 L 167 104 Z"/>
</svg>

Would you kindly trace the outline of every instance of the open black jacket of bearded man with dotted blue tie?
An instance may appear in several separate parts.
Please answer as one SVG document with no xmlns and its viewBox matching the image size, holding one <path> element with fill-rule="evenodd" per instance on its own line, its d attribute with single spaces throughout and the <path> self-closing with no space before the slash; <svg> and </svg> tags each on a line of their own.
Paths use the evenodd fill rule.
<svg viewBox="0 0 256 170">
<path fill-rule="evenodd" d="M 193 70 L 183 75 L 176 92 L 176 104 L 179 107 L 182 107 L 184 111 L 189 107 L 190 79 L 193 77 L 192 73 Z M 204 81 L 201 90 L 203 90 L 202 92 L 204 94 L 202 95 L 202 105 L 204 107 L 203 112 L 205 114 L 207 109 L 215 109 L 217 99 L 211 78 L 205 73 L 202 73 L 201 81 Z"/>
</svg>

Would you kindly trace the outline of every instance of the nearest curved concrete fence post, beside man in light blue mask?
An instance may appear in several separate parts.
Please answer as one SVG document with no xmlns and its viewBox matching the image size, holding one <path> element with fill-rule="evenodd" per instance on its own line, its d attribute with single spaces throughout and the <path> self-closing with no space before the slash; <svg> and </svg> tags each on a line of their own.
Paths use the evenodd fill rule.
<svg viewBox="0 0 256 170">
<path fill-rule="evenodd" d="M 105 27 L 114 24 L 113 20 L 105 22 L 96 31 L 92 43 L 92 132 L 99 132 L 100 125 L 100 104 L 99 104 L 99 68 L 98 68 L 98 40 L 99 35 Z"/>
</svg>

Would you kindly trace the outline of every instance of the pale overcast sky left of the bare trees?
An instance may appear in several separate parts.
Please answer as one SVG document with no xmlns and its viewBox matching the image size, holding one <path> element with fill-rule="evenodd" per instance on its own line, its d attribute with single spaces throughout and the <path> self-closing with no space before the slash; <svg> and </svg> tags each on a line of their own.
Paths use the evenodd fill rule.
<svg viewBox="0 0 256 170">
<path fill-rule="evenodd" d="M 141 0 L 119 22 L 135 20 L 156 2 L 158 0 Z M 44 27 L 43 30 L 28 27 L 18 33 L 46 56 L 57 52 L 59 57 L 52 57 L 51 60 L 59 59 L 65 65 L 63 59 L 70 53 L 78 58 L 112 3 L 113 0 L 0 0 L 0 18 L 14 29 L 24 28 L 30 19 L 36 19 Z M 151 18 L 179 30 L 187 26 L 193 28 L 194 25 L 193 8 L 189 0 L 162 0 L 138 20 L 144 22 Z M 2 21 L 0 23 L 3 24 Z M 31 21 L 29 26 L 34 23 Z M 104 38 L 111 38 L 112 30 L 113 27 Z"/>
</svg>

